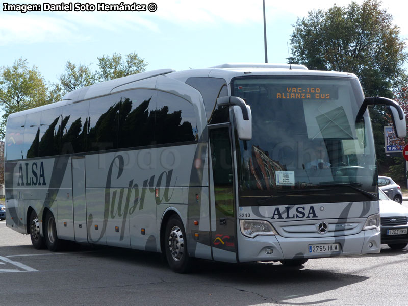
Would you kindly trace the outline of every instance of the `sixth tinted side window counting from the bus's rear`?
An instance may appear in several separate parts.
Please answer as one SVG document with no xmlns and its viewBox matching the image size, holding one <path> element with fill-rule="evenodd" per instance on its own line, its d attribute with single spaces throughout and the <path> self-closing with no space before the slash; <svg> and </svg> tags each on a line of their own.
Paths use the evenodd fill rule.
<svg viewBox="0 0 408 306">
<path fill-rule="evenodd" d="M 132 90 L 121 93 L 119 148 L 154 144 L 156 91 Z"/>
</svg>

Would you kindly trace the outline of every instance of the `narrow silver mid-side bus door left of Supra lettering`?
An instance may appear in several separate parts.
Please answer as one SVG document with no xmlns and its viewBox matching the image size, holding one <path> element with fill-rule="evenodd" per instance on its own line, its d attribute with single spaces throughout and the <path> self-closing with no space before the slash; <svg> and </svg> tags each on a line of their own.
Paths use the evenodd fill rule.
<svg viewBox="0 0 408 306">
<path fill-rule="evenodd" d="M 88 242 L 85 197 L 85 157 L 72 158 L 72 201 L 75 241 Z"/>
</svg>

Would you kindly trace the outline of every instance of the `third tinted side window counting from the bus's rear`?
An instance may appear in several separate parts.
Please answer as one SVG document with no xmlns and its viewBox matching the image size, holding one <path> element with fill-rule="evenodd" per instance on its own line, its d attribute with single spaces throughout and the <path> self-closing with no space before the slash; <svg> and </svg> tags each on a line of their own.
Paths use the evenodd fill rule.
<svg viewBox="0 0 408 306">
<path fill-rule="evenodd" d="M 41 112 L 39 156 L 60 154 L 62 107 Z"/>
</svg>

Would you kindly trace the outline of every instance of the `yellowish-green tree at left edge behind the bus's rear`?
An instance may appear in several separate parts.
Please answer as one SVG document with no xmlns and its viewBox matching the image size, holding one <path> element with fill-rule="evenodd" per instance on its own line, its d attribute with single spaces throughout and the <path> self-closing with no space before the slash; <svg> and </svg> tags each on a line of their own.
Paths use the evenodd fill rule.
<svg viewBox="0 0 408 306">
<path fill-rule="evenodd" d="M 7 117 L 11 113 L 52 102 L 41 73 L 36 66 L 29 68 L 27 60 L 16 60 L 11 67 L 0 69 L 0 103 L 4 114 L 0 121 L 0 138 L 6 132 Z"/>
</svg>

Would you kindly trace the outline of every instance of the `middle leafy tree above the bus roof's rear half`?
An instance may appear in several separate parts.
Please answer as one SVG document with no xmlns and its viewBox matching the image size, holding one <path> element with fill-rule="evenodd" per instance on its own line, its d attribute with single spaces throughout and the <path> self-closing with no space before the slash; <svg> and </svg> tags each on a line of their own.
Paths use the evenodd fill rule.
<svg viewBox="0 0 408 306">
<path fill-rule="evenodd" d="M 89 68 L 90 65 L 75 65 L 68 61 L 65 73 L 60 75 L 62 89 L 69 92 L 85 86 L 95 84 L 97 76 Z"/>
</svg>

